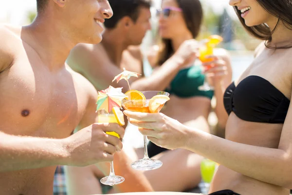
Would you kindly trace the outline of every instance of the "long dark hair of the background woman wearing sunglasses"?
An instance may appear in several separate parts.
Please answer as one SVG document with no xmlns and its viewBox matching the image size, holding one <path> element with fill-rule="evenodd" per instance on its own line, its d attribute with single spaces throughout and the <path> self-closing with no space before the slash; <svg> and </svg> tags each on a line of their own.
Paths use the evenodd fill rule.
<svg viewBox="0 0 292 195">
<path fill-rule="evenodd" d="M 176 1 L 179 7 L 183 10 L 182 13 L 186 26 L 195 39 L 199 35 L 203 19 L 203 10 L 200 0 Z M 162 65 L 174 53 L 170 39 L 162 39 L 162 43 L 162 50 L 158 54 L 158 65 Z"/>
</svg>

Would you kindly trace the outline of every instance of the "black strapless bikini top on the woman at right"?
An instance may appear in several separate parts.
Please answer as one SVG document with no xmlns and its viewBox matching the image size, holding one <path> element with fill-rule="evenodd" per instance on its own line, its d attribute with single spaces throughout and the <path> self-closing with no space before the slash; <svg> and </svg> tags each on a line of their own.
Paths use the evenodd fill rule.
<svg viewBox="0 0 292 195">
<path fill-rule="evenodd" d="M 242 120 L 264 123 L 284 123 L 290 100 L 268 80 L 249 76 L 237 87 L 234 82 L 224 93 L 228 115 L 234 112 Z"/>
</svg>

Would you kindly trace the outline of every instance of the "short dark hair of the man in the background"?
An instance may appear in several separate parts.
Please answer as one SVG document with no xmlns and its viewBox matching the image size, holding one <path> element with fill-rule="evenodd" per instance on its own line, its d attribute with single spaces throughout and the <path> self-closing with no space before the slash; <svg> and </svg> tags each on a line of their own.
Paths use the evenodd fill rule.
<svg viewBox="0 0 292 195">
<path fill-rule="evenodd" d="M 134 22 L 139 17 L 140 8 L 150 8 L 151 0 L 109 0 L 113 16 L 105 21 L 106 28 L 114 28 L 119 20 L 125 16 L 130 17 Z"/>
</svg>

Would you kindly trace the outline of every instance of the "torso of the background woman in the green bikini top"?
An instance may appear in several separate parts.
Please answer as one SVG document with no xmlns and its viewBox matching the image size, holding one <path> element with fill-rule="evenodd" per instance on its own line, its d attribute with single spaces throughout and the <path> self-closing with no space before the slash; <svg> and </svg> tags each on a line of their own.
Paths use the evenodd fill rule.
<svg viewBox="0 0 292 195">
<path fill-rule="evenodd" d="M 162 111 L 184 125 L 209 131 L 207 118 L 211 108 L 213 91 L 198 89 L 204 82 L 200 65 L 181 69 L 166 89 L 170 100 Z"/>
</svg>

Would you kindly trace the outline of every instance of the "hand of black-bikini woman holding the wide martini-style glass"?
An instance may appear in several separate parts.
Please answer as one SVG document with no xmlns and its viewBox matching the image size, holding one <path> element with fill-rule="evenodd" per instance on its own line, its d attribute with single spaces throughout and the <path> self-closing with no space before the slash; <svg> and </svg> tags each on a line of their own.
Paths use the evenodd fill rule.
<svg viewBox="0 0 292 195">
<path fill-rule="evenodd" d="M 179 121 L 162 113 L 124 111 L 131 124 L 138 126 L 144 136 L 158 146 L 173 150 L 184 148 L 187 128 Z"/>
</svg>

